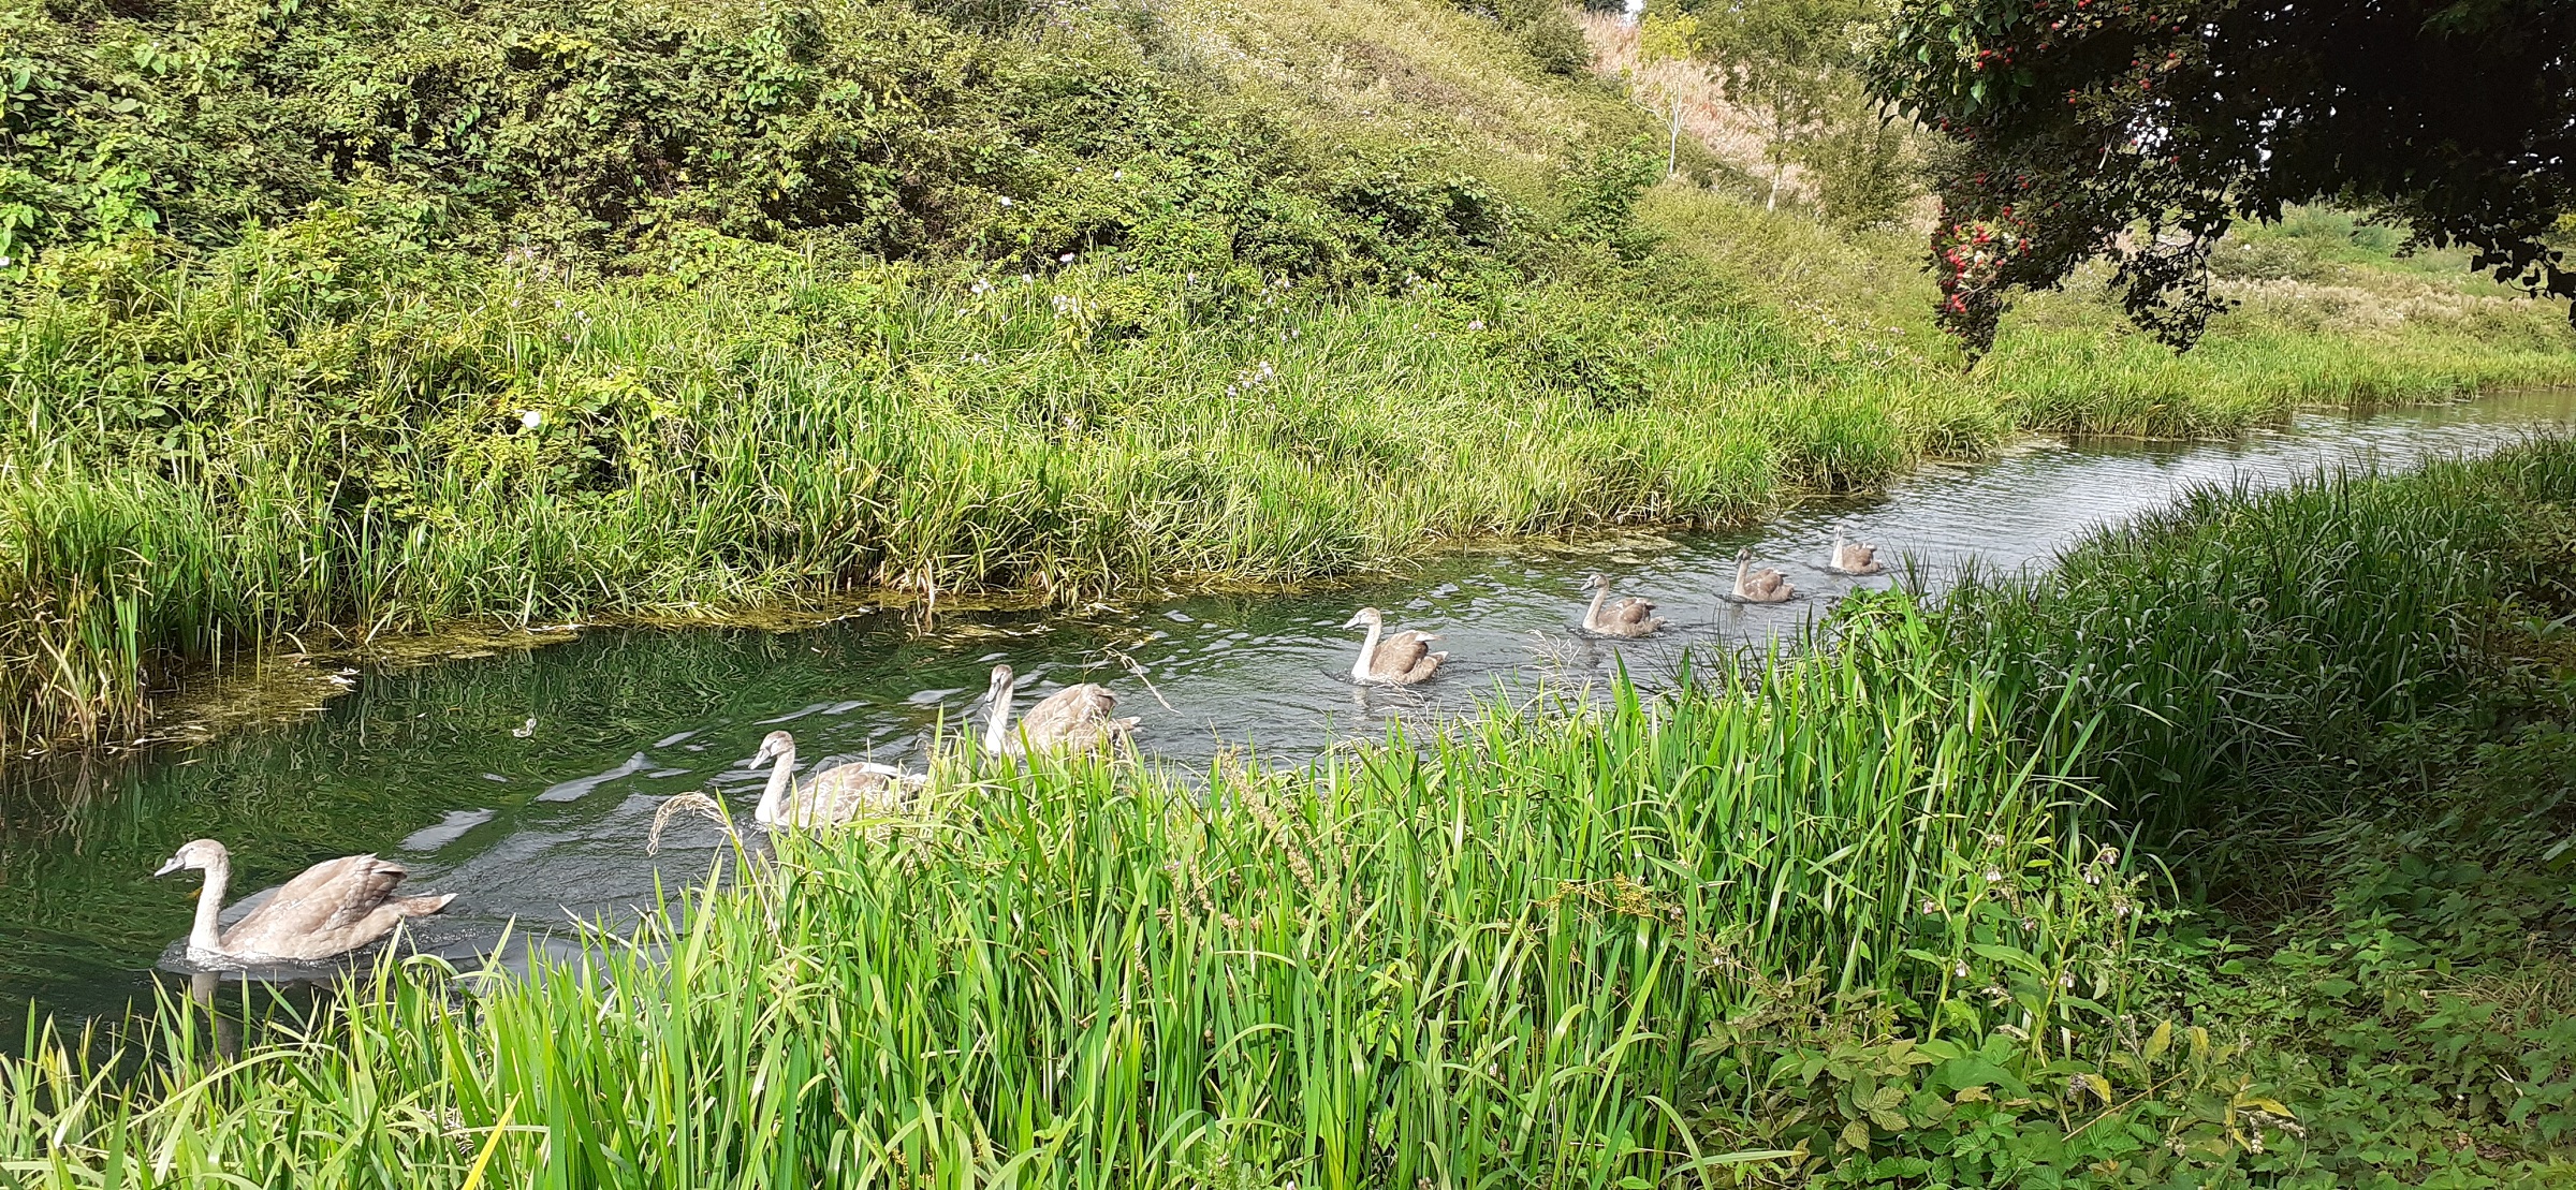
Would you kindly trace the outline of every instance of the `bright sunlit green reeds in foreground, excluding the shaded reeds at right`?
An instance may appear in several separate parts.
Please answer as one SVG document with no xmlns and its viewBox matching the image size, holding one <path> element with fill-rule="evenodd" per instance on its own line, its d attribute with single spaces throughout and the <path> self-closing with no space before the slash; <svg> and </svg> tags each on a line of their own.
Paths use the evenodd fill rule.
<svg viewBox="0 0 2576 1190">
<path fill-rule="evenodd" d="M 240 1059 L 173 1012 L 137 1082 L 33 1038 L 0 1154 L 41 1185 L 1718 1172 L 1759 1157 L 1692 1123 L 1705 1025 L 1795 976 L 1940 994 L 1991 873 L 2079 845 L 1924 631 L 1203 786 L 961 768 L 917 822 L 775 840 L 685 927 L 469 999 L 386 963 Z M 2102 907 L 2025 912 L 2038 961 L 2117 979 Z"/>
</svg>

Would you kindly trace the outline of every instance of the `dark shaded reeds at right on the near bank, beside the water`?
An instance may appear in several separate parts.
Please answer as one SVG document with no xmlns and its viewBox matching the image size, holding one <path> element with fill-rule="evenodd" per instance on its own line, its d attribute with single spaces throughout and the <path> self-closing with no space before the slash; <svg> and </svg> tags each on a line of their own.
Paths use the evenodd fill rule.
<svg viewBox="0 0 2576 1190">
<path fill-rule="evenodd" d="M 2318 757 L 2455 695 L 2486 623 L 2561 549 L 2571 497 L 2566 438 L 2409 474 L 2200 489 L 2043 574 L 1958 585 L 1937 623 L 2022 706 L 2102 708 L 2071 770 L 2177 837 L 2213 798 L 2280 796 Z"/>
</svg>

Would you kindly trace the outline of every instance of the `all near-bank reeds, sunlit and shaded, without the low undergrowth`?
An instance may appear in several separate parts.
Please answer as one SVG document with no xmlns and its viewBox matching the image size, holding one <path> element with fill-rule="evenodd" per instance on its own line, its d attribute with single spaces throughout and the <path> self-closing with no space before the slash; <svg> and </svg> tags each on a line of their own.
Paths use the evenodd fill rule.
<svg viewBox="0 0 2576 1190">
<path fill-rule="evenodd" d="M 2161 858 L 2439 706 L 2571 497 L 2571 440 L 2202 492 L 1664 698 L 1188 780 L 948 762 L 564 966 L 384 961 L 240 1053 L 183 1005 L 124 1051 L 31 1025 L 0 1169 L 1723 1185 L 1811 1159 L 1759 1144 L 1826 1061 L 1772 1028 L 2061 1082 L 2136 1051 Z"/>
</svg>

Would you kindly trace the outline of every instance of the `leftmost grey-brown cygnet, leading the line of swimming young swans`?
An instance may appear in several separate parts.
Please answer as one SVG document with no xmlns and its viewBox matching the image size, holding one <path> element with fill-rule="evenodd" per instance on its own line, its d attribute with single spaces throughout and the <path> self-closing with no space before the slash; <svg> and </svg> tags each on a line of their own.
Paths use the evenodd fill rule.
<svg viewBox="0 0 2576 1190">
<path fill-rule="evenodd" d="M 304 868 L 304 876 L 278 886 L 268 902 L 232 922 L 232 930 L 216 930 L 224 883 L 232 878 L 232 853 L 222 842 L 196 840 L 152 876 L 175 871 L 206 873 L 196 894 L 196 927 L 188 932 L 188 958 L 198 963 L 332 958 L 394 932 L 404 917 L 428 917 L 456 899 L 456 894 L 394 896 L 394 886 L 410 876 L 399 863 L 343 855 Z"/>
</svg>

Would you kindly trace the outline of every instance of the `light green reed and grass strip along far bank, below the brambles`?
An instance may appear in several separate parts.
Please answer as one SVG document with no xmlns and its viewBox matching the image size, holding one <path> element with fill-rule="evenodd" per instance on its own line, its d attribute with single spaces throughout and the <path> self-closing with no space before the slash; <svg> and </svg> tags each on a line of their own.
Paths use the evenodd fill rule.
<svg viewBox="0 0 2576 1190">
<path fill-rule="evenodd" d="M 1687 258 L 1365 296 L 737 245 L 688 286 L 567 283 L 294 224 L 90 268 L 0 319 L 8 750 L 131 737 L 152 690 L 286 634 L 1293 582 L 1448 538 L 1744 520 L 2014 425 L 2228 433 L 2563 376 L 2424 337 L 2316 348 L 2275 384 L 2043 335 L 1963 379 Z M 2362 358 L 2385 376 L 2326 384 Z"/>
</svg>

